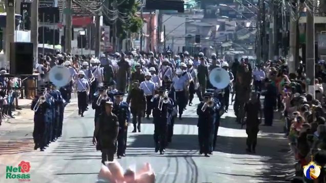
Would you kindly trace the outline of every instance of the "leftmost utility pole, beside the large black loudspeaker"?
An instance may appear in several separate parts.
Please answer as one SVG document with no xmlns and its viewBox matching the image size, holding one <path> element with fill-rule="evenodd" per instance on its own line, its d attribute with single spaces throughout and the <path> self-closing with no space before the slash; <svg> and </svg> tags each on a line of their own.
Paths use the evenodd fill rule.
<svg viewBox="0 0 326 183">
<path fill-rule="evenodd" d="M 10 62 L 10 43 L 15 42 L 15 0 L 7 0 L 6 8 L 6 62 Z M 2 66 L 5 66 L 2 63 Z"/>
</svg>

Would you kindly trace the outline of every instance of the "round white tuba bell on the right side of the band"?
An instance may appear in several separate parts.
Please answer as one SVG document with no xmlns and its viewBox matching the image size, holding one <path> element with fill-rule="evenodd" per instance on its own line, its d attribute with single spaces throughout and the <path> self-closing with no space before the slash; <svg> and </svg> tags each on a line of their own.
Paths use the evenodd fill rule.
<svg viewBox="0 0 326 183">
<path fill-rule="evenodd" d="M 224 89 L 230 84 L 230 75 L 224 68 L 214 68 L 210 75 L 209 81 L 217 89 Z"/>
</svg>

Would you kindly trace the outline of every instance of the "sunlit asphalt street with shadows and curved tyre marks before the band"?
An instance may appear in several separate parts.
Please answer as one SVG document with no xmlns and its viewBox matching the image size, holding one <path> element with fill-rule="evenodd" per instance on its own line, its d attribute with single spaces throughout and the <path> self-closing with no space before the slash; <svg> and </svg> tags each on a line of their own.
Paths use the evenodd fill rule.
<svg viewBox="0 0 326 183">
<path fill-rule="evenodd" d="M 195 98 L 194 104 L 197 103 Z M 30 182 L 95 182 L 101 156 L 92 144 L 94 111 L 89 107 L 81 118 L 76 101 L 70 108 L 75 109 L 65 116 L 62 138 L 44 152 L 32 150 L 30 128 L 0 136 L 0 140 L 9 138 L 13 147 L 21 144 L 20 151 L 6 152 L 0 145 L 0 182 L 18 182 L 6 179 L 6 166 L 17 166 L 21 161 L 30 162 Z M 282 122 L 276 119 L 273 127 L 261 126 L 256 154 L 248 154 L 246 131 L 240 129 L 234 117 L 230 106 L 222 116 L 218 148 L 211 157 L 198 154 L 196 105 L 187 107 L 182 121 L 176 119 L 172 143 L 164 155 L 155 153 L 154 126 L 151 120 L 144 119 L 140 133 L 131 133 L 133 127 L 129 127 L 126 157 L 118 161 L 124 168 L 133 169 L 150 163 L 157 183 L 285 182 L 284 176 L 293 169 L 293 162 L 289 161 L 288 141 L 280 133 Z"/>
</svg>

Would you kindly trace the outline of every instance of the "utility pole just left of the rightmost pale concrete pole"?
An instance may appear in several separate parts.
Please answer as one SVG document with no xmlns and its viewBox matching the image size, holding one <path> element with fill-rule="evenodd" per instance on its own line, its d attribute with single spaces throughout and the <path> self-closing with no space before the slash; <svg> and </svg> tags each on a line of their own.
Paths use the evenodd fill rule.
<svg viewBox="0 0 326 183">
<path fill-rule="evenodd" d="M 294 6 L 292 8 L 293 12 L 290 13 L 290 45 L 289 45 L 289 73 L 295 73 L 295 62 L 296 62 L 296 44 L 297 44 L 297 21 L 296 17 L 293 16 L 297 14 L 297 3 L 292 3 Z"/>
</svg>

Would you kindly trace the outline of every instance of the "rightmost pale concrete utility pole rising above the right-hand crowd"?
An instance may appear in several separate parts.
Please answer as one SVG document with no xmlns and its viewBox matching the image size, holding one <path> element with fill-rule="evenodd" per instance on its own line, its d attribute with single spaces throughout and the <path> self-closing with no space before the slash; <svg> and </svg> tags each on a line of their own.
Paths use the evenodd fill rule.
<svg viewBox="0 0 326 183">
<path fill-rule="evenodd" d="M 308 80 L 308 92 L 315 98 L 315 1 L 313 2 L 310 4 L 311 11 L 307 11 L 307 24 L 305 25 L 305 73 Z"/>
</svg>

